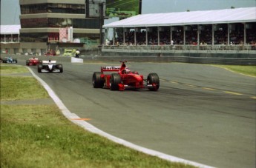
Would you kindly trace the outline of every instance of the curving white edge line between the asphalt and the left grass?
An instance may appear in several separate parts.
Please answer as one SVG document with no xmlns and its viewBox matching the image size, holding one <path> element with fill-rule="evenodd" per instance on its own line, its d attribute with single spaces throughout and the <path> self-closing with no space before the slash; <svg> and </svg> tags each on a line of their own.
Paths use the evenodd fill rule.
<svg viewBox="0 0 256 168">
<path fill-rule="evenodd" d="M 29 67 L 27 67 L 28 70 L 30 70 Z M 172 155 L 167 155 L 163 152 L 158 152 L 156 150 L 152 149 L 147 149 L 145 147 L 140 147 L 136 144 L 132 144 L 131 142 L 125 141 L 121 138 L 117 138 L 113 135 L 108 134 L 107 132 L 103 132 L 102 130 L 99 130 L 98 128 L 94 127 L 92 124 L 89 124 L 86 121 L 81 121 L 81 120 L 72 120 L 72 118 L 80 118 L 78 115 L 70 112 L 67 107 L 65 107 L 65 104 L 62 103 L 62 101 L 59 99 L 59 97 L 51 90 L 51 88 L 45 83 L 45 81 L 42 80 L 42 78 L 39 78 L 38 75 L 33 73 L 33 70 L 30 70 L 30 73 L 42 84 L 43 87 L 45 87 L 45 90 L 47 90 L 47 93 L 50 95 L 51 98 L 53 98 L 53 101 L 56 103 L 56 105 L 59 107 L 59 109 L 62 111 L 62 114 L 65 115 L 68 120 L 72 121 L 74 124 L 84 128 L 85 130 L 88 130 L 90 132 L 96 133 L 98 135 L 101 135 L 105 138 L 108 138 L 111 141 L 116 142 L 117 144 L 122 144 L 125 147 L 130 147 L 131 149 L 135 149 L 137 151 L 143 152 L 148 155 L 153 155 L 157 156 L 158 158 L 163 158 L 167 161 L 172 161 L 172 162 L 180 162 L 183 164 L 189 164 L 194 167 L 202 167 L 202 168 L 212 168 L 208 165 L 200 164 L 194 161 L 188 161 L 183 158 L 177 158 Z"/>
</svg>

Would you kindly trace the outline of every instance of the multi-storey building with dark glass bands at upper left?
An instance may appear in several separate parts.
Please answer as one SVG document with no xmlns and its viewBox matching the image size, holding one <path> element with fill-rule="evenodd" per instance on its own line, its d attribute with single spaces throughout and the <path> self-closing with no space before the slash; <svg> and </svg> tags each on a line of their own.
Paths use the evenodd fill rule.
<svg viewBox="0 0 256 168">
<path fill-rule="evenodd" d="M 85 0 L 20 0 L 20 42 L 36 50 L 80 46 L 85 40 L 99 41 L 99 19 L 85 18 Z M 67 31 L 65 40 L 60 33 Z M 75 42 L 75 43 L 74 43 Z M 80 45 L 78 45 L 80 43 Z M 42 47 L 35 49 L 33 46 Z M 24 53 L 24 51 L 23 51 Z"/>
</svg>

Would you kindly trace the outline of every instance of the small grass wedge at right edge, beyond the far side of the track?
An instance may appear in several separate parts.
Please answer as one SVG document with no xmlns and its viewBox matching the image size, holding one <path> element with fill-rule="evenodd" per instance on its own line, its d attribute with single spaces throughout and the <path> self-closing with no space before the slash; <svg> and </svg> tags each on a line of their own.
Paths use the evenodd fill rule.
<svg viewBox="0 0 256 168">
<path fill-rule="evenodd" d="M 256 66 L 243 66 L 243 65 L 217 65 L 217 67 L 223 67 L 228 70 L 232 70 L 236 73 L 242 73 L 244 75 L 256 76 Z"/>
</svg>

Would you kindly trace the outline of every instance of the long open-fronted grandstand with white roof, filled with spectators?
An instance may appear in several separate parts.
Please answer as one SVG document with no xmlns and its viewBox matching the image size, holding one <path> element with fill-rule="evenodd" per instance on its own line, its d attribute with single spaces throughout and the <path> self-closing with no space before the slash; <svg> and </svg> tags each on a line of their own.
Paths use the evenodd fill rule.
<svg viewBox="0 0 256 168">
<path fill-rule="evenodd" d="M 142 14 L 103 27 L 105 32 L 113 29 L 103 52 L 256 50 L 256 7 Z"/>
</svg>

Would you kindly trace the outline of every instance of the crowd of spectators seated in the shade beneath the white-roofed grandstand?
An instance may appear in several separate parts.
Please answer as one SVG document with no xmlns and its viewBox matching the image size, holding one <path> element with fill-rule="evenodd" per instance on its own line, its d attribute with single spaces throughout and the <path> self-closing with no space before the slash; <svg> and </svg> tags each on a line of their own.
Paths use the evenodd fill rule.
<svg viewBox="0 0 256 168">
<path fill-rule="evenodd" d="M 229 44 L 228 44 L 228 24 L 218 24 L 214 30 L 214 45 L 255 45 L 256 41 L 256 23 L 250 23 L 252 26 L 246 28 L 246 44 L 244 44 L 244 24 L 234 24 L 229 28 Z M 136 31 L 136 44 L 134 43 L 134 29 L 125 32 L 125 41 L 123 41 L 122 29 L 116 29 L 116 38 L 114 45 L 145 45 L 146 30 L 138 29 Z M 177 27 L 172 31 L 170 27 L 163 27 L 160 31 L 160 45 L 183 45 L 184 33 L 183 27 Z M 197 25 L 191 25 L 186 30 L 186 45 L 197 45 Z M 172 36 L 172 38 L 171 38 Z M 200 45 L 212 44 L 212 25 L 204 25 L 199 30 Z M 113 43 L 111 43 L 113 44 Z M 151 27 L 148 30 L 148 45 L 158 45 L 157 27 Z"/>
</svg>

